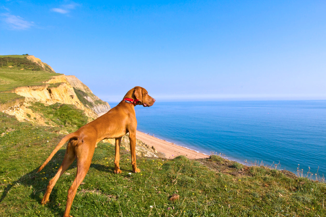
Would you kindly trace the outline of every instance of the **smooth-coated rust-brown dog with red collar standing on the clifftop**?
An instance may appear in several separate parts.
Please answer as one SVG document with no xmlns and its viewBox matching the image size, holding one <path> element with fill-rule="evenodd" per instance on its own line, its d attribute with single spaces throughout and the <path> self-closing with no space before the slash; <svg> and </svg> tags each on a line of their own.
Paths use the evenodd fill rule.
<svg viewBox="0 0 326 217">
<path fill-rule="evenodd" d="M 126 93 L 123 100 L 117 106 L 112 108 L 106 114 L 86 124 L 76 132 L 65 136 L 37 171 L 41 171 L 55 153 L 69 140 L 62 164 L 57 174 L 50 180 L 41 203 L 46 204 L 49 201 L 55 183 L 76 158 L 77 174 L 74 182 L 68 190 L 66 210 L 64 213 L 64 217 L 70 216 L 69 212 L 77 188 L 82 183 L 87 171 L 89 170 L 96 144 L 103 139 L 115 138 L 114 172 L 120 173 L 119 150 L 121 138 L 129 132 L 132 171 L 140 172 L 136 166 L 137 120 L 134 107 L 136 105 L 143 105 L 144 107 L 152 106 L 154 102 L 155 99 L 150 97 L 144 88 L 134 87 Z"/>
</svg>

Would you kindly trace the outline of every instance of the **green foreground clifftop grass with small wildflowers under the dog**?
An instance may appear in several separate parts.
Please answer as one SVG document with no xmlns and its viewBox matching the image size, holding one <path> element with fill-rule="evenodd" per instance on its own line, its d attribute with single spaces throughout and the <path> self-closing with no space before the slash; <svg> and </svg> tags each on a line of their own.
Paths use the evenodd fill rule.
<svg viewBox="0 0 326 217">
<path fill-rule="evenodd" d="M 53 108 L 43 109 L 46 116 L 50 112 L 45 110 Z M 45 206 L 40 201 L 65 149 L 36 173 L 63 138 L 57 133 L 60 130 L 0 113 L 0 216 L 63 215 L 76 164 L 56 183 Z M 326 216 L 325 183 L 290 178 L 276 169 L 241 168 L 220 156 L 138 157 L 141 172 L 131 173 L 130 153 L 125 149 L 121 150 L 122 174 L 113 173 L 113 162 L 114 145 L 99 143 L 78 188 L 72 216 Z"/>
</svg>

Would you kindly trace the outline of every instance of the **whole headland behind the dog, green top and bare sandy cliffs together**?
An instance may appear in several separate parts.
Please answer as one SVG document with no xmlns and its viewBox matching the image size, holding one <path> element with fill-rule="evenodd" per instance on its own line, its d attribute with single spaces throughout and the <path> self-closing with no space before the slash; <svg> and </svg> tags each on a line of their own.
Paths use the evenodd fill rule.
<svg viewBox="0 0 326 217">
<path fill-rule="evenodd" d="M 33 102 L 72 104 L 92 119 L 111 109 L 78 78 L 55 73 L 31 55 L 0 56 L 0 84 L 0 111 L 20 121 L 44 122 L 27 108 Z"/>
</svg>

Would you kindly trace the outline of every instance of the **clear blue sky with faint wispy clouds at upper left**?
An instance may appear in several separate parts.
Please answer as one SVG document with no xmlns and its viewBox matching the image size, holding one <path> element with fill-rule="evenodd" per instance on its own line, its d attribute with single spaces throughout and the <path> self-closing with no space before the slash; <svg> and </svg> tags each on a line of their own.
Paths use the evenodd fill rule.
<svg viewBox="0 0 326 217">
<path fill-rule="evenodd" d="M 12 54 L 108 102 L 326 99 L 326 1 L 0 0 Z"/>
</svg>

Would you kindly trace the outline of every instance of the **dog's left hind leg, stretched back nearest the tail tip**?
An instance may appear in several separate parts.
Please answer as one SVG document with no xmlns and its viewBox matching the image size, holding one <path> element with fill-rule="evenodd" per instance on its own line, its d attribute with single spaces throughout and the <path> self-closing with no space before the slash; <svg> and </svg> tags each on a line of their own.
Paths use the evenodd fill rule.
<svg viewBox="0 0 326 217">
<path fill-rule="evenodd" d="M 51 194 L 51 191 L 55 185 L 55 183 L 58 181 L 60 176 L 67 170 L 67 168 L 74 162 L 75 160 L 75 151 L 73 148 L 73 142 L 68 142 L 67 144 L 67 149 L 66 149 L 66 154 L 65 157 L 62 161 L 62 164 L 55 176 L 50 180 L 48 187 L 46 188 L 46 192 L 44 194 L 43 199 L 41 200 L 41 204 L 46 204 L 49 201 L 49 197 Z"/>
</svg>

